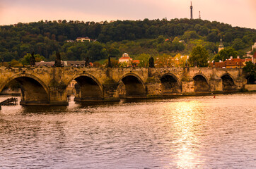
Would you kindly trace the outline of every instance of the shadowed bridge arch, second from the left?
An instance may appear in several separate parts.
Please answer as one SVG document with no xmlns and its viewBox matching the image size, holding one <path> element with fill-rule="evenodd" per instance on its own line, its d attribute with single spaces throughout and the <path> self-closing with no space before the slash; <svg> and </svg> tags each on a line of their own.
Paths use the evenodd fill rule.
<svg viewBox="0 0 256 169">
<path fill-rule="evenodd" d="M 74 76 L 68 84 L 75 80 L 75 101 L 99 101 L 104 99 L 103 85 L 93 75 L 83 73 Z"/>
</svg>

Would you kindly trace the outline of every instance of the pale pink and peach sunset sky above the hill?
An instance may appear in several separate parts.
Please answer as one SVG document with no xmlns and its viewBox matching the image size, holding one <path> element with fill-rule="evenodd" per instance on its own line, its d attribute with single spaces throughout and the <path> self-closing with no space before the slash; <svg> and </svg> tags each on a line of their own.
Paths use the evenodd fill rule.
<svg viewBox="0 0 256 169">
<path fill-rule="evenodd" d="M 256 29 L 256 0 L 193 0 L 193 16 Z M 39 20 L 190 18 L 190 0 L 0 0 L 0 25 Z"/>
</svg>

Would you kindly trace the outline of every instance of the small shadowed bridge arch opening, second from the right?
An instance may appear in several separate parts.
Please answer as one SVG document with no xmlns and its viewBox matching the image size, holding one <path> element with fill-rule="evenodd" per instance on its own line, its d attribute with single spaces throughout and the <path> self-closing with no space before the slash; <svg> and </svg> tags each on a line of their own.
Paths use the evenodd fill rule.
<svg viewBox="0 0 256 169">
<path fill-rule="evenodd" d="M 202 73 L 197 73 L 193 77 L 194 80 L 194 92 L 196 93 L 207 93 L 211 92 L 209 80 Z"/>
</svg>

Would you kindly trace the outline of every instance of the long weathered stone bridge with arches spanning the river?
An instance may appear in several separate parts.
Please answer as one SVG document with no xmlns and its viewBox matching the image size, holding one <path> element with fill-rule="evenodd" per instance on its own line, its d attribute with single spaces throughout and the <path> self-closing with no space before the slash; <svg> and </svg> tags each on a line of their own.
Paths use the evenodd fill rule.
<svg viewBox="0 0 256 169">
<path fill-rule="evenodd" d="M 21 84 L 21 105 L 68 105 L 72 80 L 75 101 L 235 92 L 247 82 L 239 68 L 0 67 L 0 72 L 0 91 L 13 80 Z"/>
</svg>

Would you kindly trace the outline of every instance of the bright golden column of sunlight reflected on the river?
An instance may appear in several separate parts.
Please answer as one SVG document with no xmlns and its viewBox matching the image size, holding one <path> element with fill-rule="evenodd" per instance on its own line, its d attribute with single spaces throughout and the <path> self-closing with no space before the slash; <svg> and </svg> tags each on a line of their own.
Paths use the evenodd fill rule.
<svg viewBox="0 0 256 169">
<path fill-rule="evenodd" d="M 202 130 L 202 104 L 199 101 L 178 102 L 174 104 L 175 114 L 172 120 L 175 121 L 175 130 L 178 139 L 174 142 L 177 145 L 178 168 L 195 168 L 202 166 L 199 161 L 199 139 L 197 133 Z"/>
</svg>

